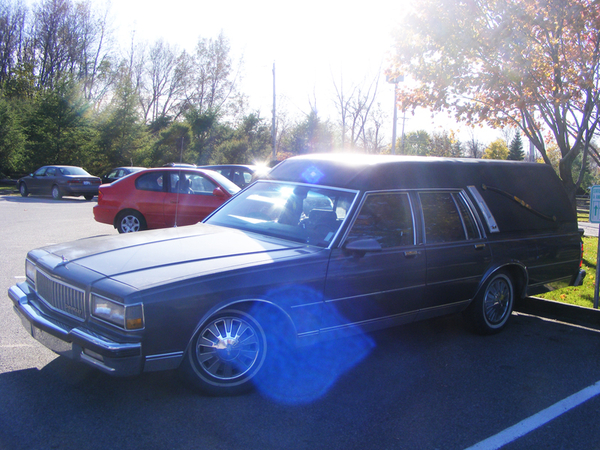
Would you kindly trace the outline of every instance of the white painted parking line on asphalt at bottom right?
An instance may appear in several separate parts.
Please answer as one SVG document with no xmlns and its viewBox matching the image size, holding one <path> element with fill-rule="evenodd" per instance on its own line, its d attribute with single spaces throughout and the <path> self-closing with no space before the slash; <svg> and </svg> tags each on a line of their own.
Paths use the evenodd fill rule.
<svg viewBox="0 0 600 450">
<path fill-rule="evenodd" d="M 496 450 L 600 394 L 600 381 L 466 450 Z"/>
</svg>

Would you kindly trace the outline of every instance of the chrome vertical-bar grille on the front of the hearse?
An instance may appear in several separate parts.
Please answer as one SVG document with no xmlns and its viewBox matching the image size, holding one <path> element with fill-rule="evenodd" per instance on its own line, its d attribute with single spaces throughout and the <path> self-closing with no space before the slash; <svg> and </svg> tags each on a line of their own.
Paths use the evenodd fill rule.
<svg viewBox="0 0 600 450">
<path fill-rule="evenodd" d="M 35 286 L 38 296 L 51 308 L 76 319 L 85 319 L 85 291 L 37 271 Z"/>
</svg>

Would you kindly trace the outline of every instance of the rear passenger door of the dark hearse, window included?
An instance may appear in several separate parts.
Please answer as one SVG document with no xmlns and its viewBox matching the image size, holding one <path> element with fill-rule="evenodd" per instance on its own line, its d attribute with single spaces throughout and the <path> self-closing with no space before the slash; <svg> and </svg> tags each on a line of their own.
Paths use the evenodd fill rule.
<svg viewBox="0 0 600 450">
<path fill-rule="evenodd" d="M 427 254 L 423 308 L 474 297 L 491 262 L 491 250 L 464 192 L 418 193 Z"/>
</svg>

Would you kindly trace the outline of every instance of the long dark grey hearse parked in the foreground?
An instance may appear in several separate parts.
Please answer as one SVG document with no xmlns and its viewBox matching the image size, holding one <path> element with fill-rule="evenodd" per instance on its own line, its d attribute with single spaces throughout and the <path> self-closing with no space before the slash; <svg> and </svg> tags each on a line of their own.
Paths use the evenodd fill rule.
<svg viewBox="0 0 600 450">
<path fill-rule="evenodd" d="M 581 283 L 581 256 L 545 164 L 307 155 L 202 224 L 32 250 L 9 296 L 56 352 L 234 393 L 293 345 L 458 312 L 497 333 L 521 297 Z"/>
</svg>

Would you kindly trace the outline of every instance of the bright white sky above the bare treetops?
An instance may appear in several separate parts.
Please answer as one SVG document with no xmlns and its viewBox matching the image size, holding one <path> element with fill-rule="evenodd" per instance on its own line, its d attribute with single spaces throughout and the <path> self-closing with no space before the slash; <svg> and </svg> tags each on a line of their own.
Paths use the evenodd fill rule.
<svg viewBox="0 0 600 450">
<path fill-rule="evenodd" d="M 95 1 L 103 7 L 103 0 Z M 136 42 L 152 44 L 162 38 L 192 52 L 199 38 L 223 32 L 232 57 L 244 61 L 241 91 L 252 110 L 269 120 L 273 66 L 277 111 L 291 117 L 308 113 L 316 103 L 322 118 L 335 119 L 334 82 L 340 86 L 343 79 L 346 88 L 366 86 L 378 76 L 378 101 L 387 115 L 384 133 L 391 142 L 393 85 L 386 83 L 383 72 L 394 27 L 410 1 L 113 0 L 110 11 L 122 48 L 135 36 Z M 402 123 L 399 114 L 398 137 Z M 407 116 L 404 124 L 406 132 L 457 128 L 446 117 L 432 119 L 427 111 Z"/>
</svg>

